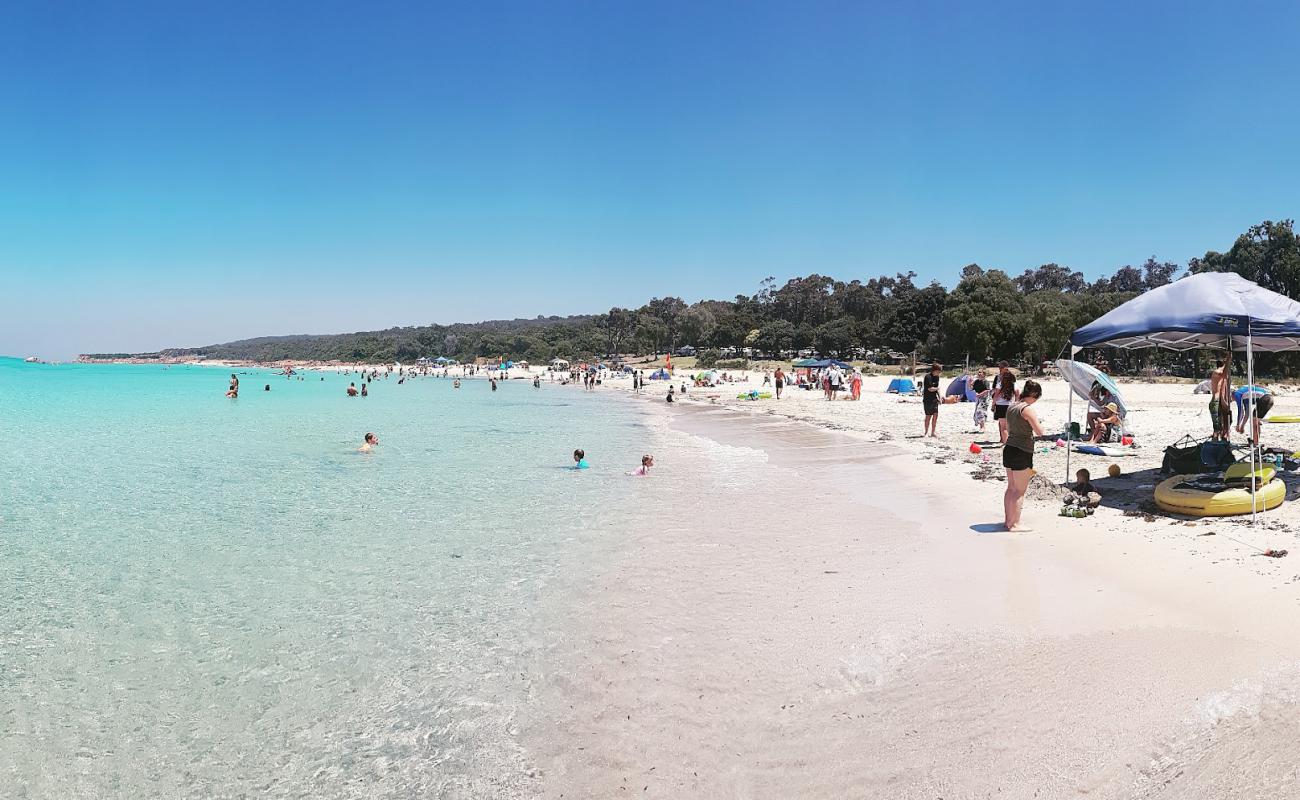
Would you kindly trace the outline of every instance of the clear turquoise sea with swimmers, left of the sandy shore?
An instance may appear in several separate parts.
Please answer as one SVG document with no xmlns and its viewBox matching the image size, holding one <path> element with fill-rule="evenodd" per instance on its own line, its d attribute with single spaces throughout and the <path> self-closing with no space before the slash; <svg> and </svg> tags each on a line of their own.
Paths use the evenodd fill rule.
<svg viewBox="0 0 1300 800">
<path fill-rule="evenodd" d="M 547 637 L 671 487 L 627 476 L 655 425 L 237 372 L 0 359 L 0 795 L 528 795 Z"/>
</svg>

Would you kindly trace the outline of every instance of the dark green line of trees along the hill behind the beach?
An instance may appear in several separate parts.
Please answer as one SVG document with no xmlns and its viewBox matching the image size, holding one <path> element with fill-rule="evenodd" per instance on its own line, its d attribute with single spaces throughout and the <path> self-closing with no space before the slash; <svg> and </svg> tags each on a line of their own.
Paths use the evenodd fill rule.
<svg viewBox="0 0 1300 800">
<path fill-rule="evenodd" d="M 413 362 L 456 359 L 593 359 L 610 354 L 658 355 L 682 345 L 763 355 L 812 350 L 854 358 L 863 351 L 916 354 L 944 362 L 1057 358 L 1070 333 L 1138 294 L 1196 272 L 1236 272 L 1268 289 L 1300 297 L 1300 242 L 1294 221 L 1251 226 L 1223 252 L 1187 264 L 1147 259 L 1087 281 L 1061 264 L 1014 276 L 968 264 L 950 290 L 915 272 L 866 281 L 809 274 L 777 285 L 760 282 L 751 295 L 688 304 L 653 298 L 640 308 L 606 313 L 476 324 L 424 325 L 328 336 L 243 340 L 157 355 L 282 360 Z M 1135 358 L 1121 354 L 1119 360 Z M 1131 366 L 1131 364 L 1124 364 Z"/>
</svg>

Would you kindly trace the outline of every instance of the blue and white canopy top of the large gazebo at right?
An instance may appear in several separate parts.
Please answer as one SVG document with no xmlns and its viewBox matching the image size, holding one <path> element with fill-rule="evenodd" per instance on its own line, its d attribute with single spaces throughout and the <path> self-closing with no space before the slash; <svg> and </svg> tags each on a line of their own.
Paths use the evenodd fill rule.
<svg viewBox="0 0 1300 800">
<path fill-rule="evenodd" d="M 1079 328 L 1075 347 L 1300 350 L 1300 303 L 1232 272 L 1202 272 L 1152 289 Z"/>
</svg>

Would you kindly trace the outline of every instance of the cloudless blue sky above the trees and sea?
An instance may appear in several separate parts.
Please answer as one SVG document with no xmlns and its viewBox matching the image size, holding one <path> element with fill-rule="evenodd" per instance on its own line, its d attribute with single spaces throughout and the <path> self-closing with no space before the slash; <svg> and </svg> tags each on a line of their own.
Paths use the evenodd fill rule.
<svg viewBox="0 0 1300 800">
<path fill-rule="evenodd" d="M 0 353 L 1183 261 L 1296 216 L 1297 42 L 1295 3 L 5 3 Z"/>
</svg>

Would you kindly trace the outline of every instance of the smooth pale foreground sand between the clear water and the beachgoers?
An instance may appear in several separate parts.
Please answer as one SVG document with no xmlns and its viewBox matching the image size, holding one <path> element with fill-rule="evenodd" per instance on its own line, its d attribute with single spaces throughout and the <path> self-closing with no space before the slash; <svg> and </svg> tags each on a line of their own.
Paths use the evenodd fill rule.
<svg viewBox="0 0 1300 800">
<path fill-rule="evenodd" d="M 1178 389 L 1132 405 L 1178 424 L 1201 405 Z M 1287 506 L 1248 531 L 1053 500 L 1034 533 L 992 533 L 1002 485 L 935 463 L 963 428 L 870 442 L 863 420 L 919 429 L 919 403 L 659 394 L 670 436 L 760 466 L 597 581 L 540 692 L 546 796 L 1294 796 L 1300 581 L 1252 555 L 1291 542 Z M 745 522 L 693 522 L 710 507 Z"/>
</svg>

